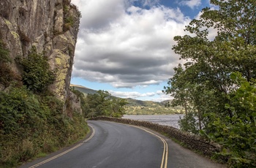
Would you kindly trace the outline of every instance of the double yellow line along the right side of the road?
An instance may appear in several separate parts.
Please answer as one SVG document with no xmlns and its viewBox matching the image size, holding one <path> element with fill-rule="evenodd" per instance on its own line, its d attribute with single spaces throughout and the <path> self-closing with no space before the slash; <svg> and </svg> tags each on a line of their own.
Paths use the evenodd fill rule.
<svg viewBox="0 0 256 168">
<path fill-rule="evenodd" d="M 132 125 L 129 125 L 129 126 L 132 126 Z M 153 132 L 151 131 L 148 131 L 146 129 L 143 129 L 139 126 L 134 126 L 138 129 L 142 129 L 143 131 L 146 131 L 148 132 L 149 134 L 153 134 L 154 136 L 158 137 L 160 140 L 162 140 L 163 144 L 164 144 L 164 151 L 162 153 L 162 163 L 161 163 L 161 167 L 160 168 L 167 168 L 167 161 L 168 161 L 168 145 L 167 145 L 167 142 L 162 138 L 160 137 L 159 135 L 157 134 L 154 134 Z"/>
</svg>

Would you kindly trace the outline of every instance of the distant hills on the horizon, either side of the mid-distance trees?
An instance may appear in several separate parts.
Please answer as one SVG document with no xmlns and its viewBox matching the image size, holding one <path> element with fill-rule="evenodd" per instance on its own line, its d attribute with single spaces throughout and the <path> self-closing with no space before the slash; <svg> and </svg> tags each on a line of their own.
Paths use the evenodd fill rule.
<svg viewBox="0 0 256 168">
<path fill-rule="evenodd" d="M 96 90 L 91 88 L 86 88 L 82 85 L 73 85 L 70 84 L 70 87 L 74 87 L 75 90 L 78 90 L 85 95 L 97 93 Z M 181 107 L 165 107 L 167 100 L 164 102 L 152 102 L 152 101 L 142 101 L 137 99 L 127 99 L 126 114 L 127 115 L 159 115 L 159 114 L 175 114 L 182 113 L 183 110 Z"/>
</svg>

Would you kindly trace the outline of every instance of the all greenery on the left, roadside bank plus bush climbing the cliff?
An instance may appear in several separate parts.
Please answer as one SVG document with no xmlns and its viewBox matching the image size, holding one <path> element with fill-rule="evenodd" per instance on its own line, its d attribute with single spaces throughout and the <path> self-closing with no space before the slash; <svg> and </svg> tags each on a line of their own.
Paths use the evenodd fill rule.
<svg viewBox="0 0 256 168">
<path fill-rule="evenodd" d="M 20 75 L 11 69 L 11 62 L 0 41 L 0 167 L 17 167 L 45 156 L 89 131 L 83 116 L 64 111 L 64 102 L 48 90 L 55 75 L 43 54 L 32 47 L 26 58 L 18 58 Z M 67 116 L 70 112 L 72 118 Z"/>
</svg>

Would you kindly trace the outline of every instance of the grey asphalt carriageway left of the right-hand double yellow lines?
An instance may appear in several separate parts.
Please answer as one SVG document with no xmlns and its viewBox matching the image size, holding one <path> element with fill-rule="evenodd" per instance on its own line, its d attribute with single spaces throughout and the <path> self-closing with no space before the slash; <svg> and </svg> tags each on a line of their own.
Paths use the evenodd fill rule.
<svg viewBox="0 0 256 168">
<path fill-rule="evenodd" d="M 89 121 L 89 125 L 95 130 L 91 140 L 38 167 L 161 167 L 164 144 L 158 137 L 120 123 Z M 37 163 L 23 167 L 34 167 Z"/>
</svg>

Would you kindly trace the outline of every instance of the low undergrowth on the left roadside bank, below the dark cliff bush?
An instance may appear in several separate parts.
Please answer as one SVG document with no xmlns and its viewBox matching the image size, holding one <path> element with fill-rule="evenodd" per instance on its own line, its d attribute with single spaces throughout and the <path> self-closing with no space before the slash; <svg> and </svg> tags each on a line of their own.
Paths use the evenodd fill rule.
<svg viewBox="0 0 256 168">
<path fill-rule="evenodd" d="M 38 96 L 25 87 L 0 92 L 0 167 L 15 167 L 84 137 L 83 117 L 68 118 L 63 106 L 56 97 Z"/>
</svg>

